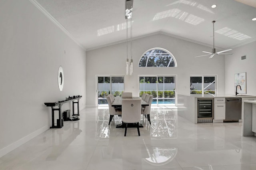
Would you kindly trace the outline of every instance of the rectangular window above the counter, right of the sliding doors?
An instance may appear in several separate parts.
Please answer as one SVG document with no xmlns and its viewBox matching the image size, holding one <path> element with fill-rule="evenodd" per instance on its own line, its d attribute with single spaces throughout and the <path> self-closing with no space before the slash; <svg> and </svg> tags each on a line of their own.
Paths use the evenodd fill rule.
<svg viewBox="0 0 256 170">
<path fill-rule="evenodd" d="M 191 76 L 190 94 L 216 94 L 216 76 Z"/>
</svg>

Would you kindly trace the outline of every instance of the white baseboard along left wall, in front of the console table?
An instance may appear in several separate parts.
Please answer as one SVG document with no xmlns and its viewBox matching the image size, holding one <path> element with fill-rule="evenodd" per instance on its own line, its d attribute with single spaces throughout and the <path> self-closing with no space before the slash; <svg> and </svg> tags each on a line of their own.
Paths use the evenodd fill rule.
<svg viewBox="0 0 256 170">
<path fill-rule="evenodd" d="M 31 134 L 28 134 L 27 136 L 17 140 L 16 142 L 13 142 L 12 144 L 9 144 L 8 146 L 6 146 L 5 148 L 2 148 L 0 150 L 0 158 L 2 156 L 4 156 L 5 154 L 8 154 L 9 152 L 11 152 L 12 150 L 18 148 L 19 146 L 21 146 L 22 144 L 28 142 L 29 140 L 31 140 L 32 138 L 38 136 L 39 134 L 41 134 L 42 132 L 46 131 L 49 129 L 49 126 L 44 126 L 34 132 L 32 132 Z"/>
</svg>

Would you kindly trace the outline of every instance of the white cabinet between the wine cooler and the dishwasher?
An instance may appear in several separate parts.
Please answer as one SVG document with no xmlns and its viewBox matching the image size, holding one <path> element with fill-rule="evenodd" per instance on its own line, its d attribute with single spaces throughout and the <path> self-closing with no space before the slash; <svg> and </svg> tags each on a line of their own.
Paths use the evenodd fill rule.
<svg viewBox="0 0 256 170">
<path fill-rule="evenodd" d="M 225 109 L 226 109 L 225 98 L 215 98 L 214 99 L 214 119 L 224 120 Z"/>
</svg>

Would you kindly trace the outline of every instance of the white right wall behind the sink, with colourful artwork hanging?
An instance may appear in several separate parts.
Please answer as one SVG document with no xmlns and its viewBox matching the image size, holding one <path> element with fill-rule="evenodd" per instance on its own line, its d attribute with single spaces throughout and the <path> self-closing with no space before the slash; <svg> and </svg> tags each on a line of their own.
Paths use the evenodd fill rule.
<svg viewBox="0 0 256 170">
<path fill-rule="evenodd" d="M 233 54 L 225 56 L 226 93 L 235 94 L 234 75 L 246 72 L 247 94 L 256 95 L 256 42 L 237 47 L 230 52 Z M 246 55 L 245 60 L 241 60 L 243 55 Z"/>
</svg>

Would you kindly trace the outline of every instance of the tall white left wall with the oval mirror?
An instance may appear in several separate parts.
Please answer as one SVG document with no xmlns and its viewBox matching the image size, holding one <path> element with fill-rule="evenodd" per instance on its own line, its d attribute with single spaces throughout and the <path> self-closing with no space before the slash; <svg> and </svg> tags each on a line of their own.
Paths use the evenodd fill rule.
<svg viewBox="0 0 256 170">
<path fill-rule="evenodd" d="M 29 0 L 0 1 L 0 16 L 1 157 L 50 128 L 51 109 L 44 102 L 83 95 L 84 107 L 86 53 Z M 62 111 L 71 108 L 64 104 Z"/>
</svg>

